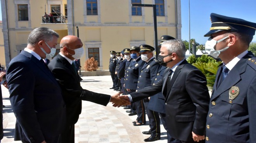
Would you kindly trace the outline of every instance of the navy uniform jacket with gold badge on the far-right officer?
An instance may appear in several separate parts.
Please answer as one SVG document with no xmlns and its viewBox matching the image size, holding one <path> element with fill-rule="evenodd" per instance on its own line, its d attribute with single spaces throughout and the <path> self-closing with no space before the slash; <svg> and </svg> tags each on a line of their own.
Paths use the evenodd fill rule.
<svg viewBox="0 0 256 143">
<path fill-rule="evenodd" d="M 221 69 L 222 66 L 218 69 L 211 95 L 206 140 L 209 143 L 254 143 L 256 58 L 249 53 L 244 56 L 217 89 Z M 230 95 L 236 97 L 230 99 Z"/>
</svg>

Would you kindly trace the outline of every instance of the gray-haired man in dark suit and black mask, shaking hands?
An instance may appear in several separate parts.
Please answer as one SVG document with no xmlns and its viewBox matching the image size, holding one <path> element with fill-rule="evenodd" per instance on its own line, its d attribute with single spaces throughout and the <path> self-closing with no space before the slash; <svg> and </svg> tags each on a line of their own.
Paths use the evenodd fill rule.
<svg viewBox="0 0 256 143">
<path fill-rule="evenodd" d="M 158 56 L 161 65 L 169 67 L 164 77 L 150 87 L 123 95 L 137 101 L 163 93 L 167 126 L 176 143 L 204 141 L 209 92 L 204 74 L 185 60 L 182 40 L 164 41 Z"/>
</svg>

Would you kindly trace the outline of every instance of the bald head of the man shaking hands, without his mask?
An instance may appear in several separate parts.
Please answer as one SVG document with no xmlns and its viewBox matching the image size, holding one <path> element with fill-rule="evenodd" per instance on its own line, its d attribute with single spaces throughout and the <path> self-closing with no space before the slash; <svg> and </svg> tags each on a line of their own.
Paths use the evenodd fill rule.
<svg viewBox="0 0 256 143">
<path fill-rule="evenodd" d="M 83 47 L 83 43 L 80 38 L 73 35 L 68 35 L 61 39 L 60 46 L 61 53 L 67 58 L 74 60 L 72 57 L 72 55 L 75 54 L 74 49 Z"/>
</svg>

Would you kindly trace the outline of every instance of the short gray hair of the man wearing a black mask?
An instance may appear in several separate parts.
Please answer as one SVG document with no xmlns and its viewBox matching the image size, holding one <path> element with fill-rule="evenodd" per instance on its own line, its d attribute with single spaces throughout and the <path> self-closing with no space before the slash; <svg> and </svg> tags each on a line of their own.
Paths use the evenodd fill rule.
<svg viewBox="0 0 256 143">
<path fill-rule="evenodd" d="M 161 47 L 166 46 L 168 54 L 176 53 L 178 57 L 185 58 L 186 48 L 182 40 L 172 39 L 166 40 L 162 43 Z"/>
</svg>

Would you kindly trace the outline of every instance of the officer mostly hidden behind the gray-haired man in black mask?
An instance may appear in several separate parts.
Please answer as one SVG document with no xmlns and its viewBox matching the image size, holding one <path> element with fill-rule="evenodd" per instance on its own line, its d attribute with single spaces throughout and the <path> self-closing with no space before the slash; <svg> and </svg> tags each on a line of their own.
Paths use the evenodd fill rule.
<svg viewBox="0 0 256 143">
<path fill-rule="evenodd" d="M 174 37 L 171 37 L 171 36 L 168 36 L 168 35 L 163 35 L 161 36 L 161 42 L 160 44 L 158 45 L 159 47 L 159 50 L 161 48 L 161 44 L 166 41 L 166 40 L 171 40 L 171 39 L 175 39 Z M 157 83 L 160 79 L 163 78 L 163 75 L 164 75 L 164 71 L 166 70 L 166 66 L 160 66 L 158 72 L 157 72 L 157 75 L 156 75 L 156 80 L 154 80 L 154 83 Z M 171 138 L 171 135 L 169 134 L 168 132 L 168 128 L 167 128 L 167 125 L 166 125 L 166 114 L 165 114 L 165 104 L 164 104 L 164 96 L 161 92 L 159 92 L 158 94 L 154 95 L 154 96 L 151 96 L 150 97 L 150 100 L 149 100 L 149 105 L 148 105 L 148 109 L 149 110 L 152 110 L 152 111 L 155 111 L 155 112 L 158 112 L 159 113 L 159 116 L 161 117 L 161 121 L 163 123 L 163 126 L 164 126 L 164 129 L 167 131 L 167 137 L 168 137 L 168 143 L 170 143 L 173 138 Z M 148 132 L 144 132 L 144 134 L 151 134 L 150 131 Z"/>
</svg>

